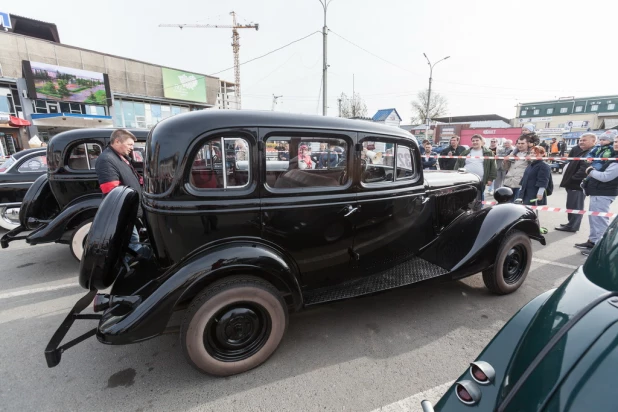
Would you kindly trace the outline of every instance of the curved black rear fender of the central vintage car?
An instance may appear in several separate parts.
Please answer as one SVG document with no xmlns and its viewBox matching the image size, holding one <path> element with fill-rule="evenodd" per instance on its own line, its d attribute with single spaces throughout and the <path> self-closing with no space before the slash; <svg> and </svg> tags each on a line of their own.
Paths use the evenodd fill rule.
<svg viewBox="0 0 618 412">
<path fill-rule="evenodd" d="M 295 309 L 302 306 L 298 273 L 289 258 L 269 245 L 234 241 L 203 249 L 168 269 L 148 288 L 152 292 L 130 313 L 124 316 L 115 316 L 111 311 L 104 313 L 97 338 L 103 343 L 125 344 L 157 336 L 164 331 L 176 308 L 215 280 L 236 274 L 262 277 L 286 290 Z"/>
</svg>

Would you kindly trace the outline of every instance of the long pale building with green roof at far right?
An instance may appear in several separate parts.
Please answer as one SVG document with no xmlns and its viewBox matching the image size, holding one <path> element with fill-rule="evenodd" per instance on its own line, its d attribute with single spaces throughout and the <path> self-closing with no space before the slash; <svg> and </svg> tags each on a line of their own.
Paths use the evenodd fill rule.
<svg viewBox="0 0 618 412">
<path fill-rule="evenodd" d="M 522 103 L 512 124 L 521 127 L 526 123 L 565 133 L 611 129 L 618 126 L 618 95 Z"/>
</svg>

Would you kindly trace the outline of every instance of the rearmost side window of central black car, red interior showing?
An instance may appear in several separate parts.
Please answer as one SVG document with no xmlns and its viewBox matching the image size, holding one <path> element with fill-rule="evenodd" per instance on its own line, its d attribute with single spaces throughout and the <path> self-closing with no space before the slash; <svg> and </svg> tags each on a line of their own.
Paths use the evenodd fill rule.
<svg viewBox="0 0 618 412">
<path fill-rule="evenodd" d="M 204 142 L 193 163 L 189 182 L 197 189 L 234 189 L 249 184 L 249 142 L 236 137 L 216 137 Z"/>
</svg>

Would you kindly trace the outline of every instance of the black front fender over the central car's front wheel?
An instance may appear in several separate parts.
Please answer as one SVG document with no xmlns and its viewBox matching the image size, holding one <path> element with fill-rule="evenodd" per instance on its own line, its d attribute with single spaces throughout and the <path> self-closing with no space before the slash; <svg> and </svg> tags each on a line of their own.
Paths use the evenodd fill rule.
<svg viewBox="0 0 618 412">
<path fill-rule="evenodd" d="M 500 242 L 513 229 L 545 244 L 534 211 L 509 203 L 462 214 L 420 257 L 458 276 L 477 273 L 493 264 Z"/>
</svg>

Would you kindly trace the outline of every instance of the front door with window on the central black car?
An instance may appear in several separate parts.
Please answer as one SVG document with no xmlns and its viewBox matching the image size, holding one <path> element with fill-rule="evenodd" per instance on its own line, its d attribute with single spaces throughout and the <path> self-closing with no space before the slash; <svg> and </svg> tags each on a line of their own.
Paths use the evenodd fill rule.
<svg viewBox="0 0 618 412">
<path fill-rule="evenodd" d="M 433 229 L 417 146 L 362 134 L 359 149 L 354 270 L 368 276 L 414 257 Z"/>
</svg>

